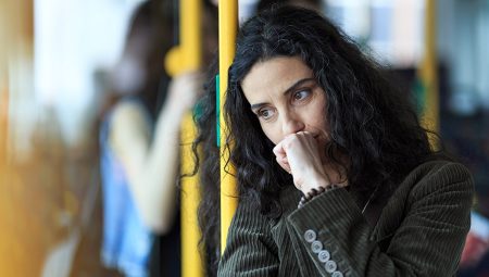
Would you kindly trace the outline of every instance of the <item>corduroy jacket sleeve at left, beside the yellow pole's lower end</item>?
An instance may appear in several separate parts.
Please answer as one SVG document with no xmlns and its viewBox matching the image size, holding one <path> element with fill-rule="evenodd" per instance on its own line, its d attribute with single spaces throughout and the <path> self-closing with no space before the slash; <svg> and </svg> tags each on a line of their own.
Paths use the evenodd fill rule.
<svg viewBox="0 0 489 277">
<path fill-rule="evenodd" d="M 268 218 L 242 200 L 233 218 L 217 276 L 277 276 L 277 248 Z"/>
</svg>

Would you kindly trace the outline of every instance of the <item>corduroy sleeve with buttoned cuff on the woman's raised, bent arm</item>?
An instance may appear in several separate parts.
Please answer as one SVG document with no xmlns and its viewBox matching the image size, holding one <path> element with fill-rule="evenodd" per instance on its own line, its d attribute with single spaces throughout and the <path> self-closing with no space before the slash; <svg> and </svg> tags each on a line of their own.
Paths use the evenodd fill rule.
<svg viewBox="0 0 489 277">
<path fill-rule="evenodd" d="M 373 238 L 344 189 L 327 191 L 292 212 L 290 237 L 310 260 L 299 264 L 311 265 L 317 276 L 454 275 L 469 228 L 472 177 L 464 166 L 449 163 L 413 184 L 405 198 L 394 193 L 385 207 L 397 211 L 399 226 L 385 237 L 390 243 L 384 252 L 377 242 L 383 238 Z"/>
</svg>

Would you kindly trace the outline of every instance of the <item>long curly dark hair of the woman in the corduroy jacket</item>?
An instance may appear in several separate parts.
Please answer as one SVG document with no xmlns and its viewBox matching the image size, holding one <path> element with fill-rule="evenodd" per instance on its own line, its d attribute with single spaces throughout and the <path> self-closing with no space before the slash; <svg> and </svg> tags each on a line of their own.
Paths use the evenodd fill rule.
<svg viewBox="0 0 489 277">
<path fill-rule="evenodd" d="M 230 151 L 236 166 L 240 198 L 249 198 L 264 215 L 280 216 L 278 193 L 293 184 L 276 163 L 274 144 L 252 113 L 240 83 L 254 64 L 277 56 L 300 56 L 312 68 L 327 98 L 324 116 L 330 141 L 324 151 L 347 169 L 350 190 L 365 196 L 361 201 L 367 201 L 378 188 L 396 188 L 415 166 L 438 159 L 409 92 L 337 26 L 311 10 L 281 7 L 264 11 L 248 20 L 238 34 L 224 105 L 229 140 L 222 146 Z M 208 257 L 211 267 L 217 264 L 220 241 L 214 81 L 209 83 L 200 103 L 203 111 L 197 118 L 200 130 L 195 143 L 204 149 L 199 219 L 208 254 L 213 255 Z M 348 164 L 342 164 L 343 155 L 349 158 Z M 381 196 L 375 193 L 375 198 Z"/>
</svg>

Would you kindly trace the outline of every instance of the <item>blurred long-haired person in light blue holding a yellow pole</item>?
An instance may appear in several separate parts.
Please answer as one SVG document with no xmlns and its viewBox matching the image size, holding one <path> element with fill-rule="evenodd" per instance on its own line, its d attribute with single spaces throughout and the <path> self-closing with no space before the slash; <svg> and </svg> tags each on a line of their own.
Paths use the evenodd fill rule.
<svg viewBox="0 0 489 277">
<path fill-rule="evenodd" d="M 179 130 L 201 81 L 164 71 L 176 35 L 171 2 L 136 9 L 100 126 L 102 261 L 126 276 L 179 276 Z"/>
</svg>

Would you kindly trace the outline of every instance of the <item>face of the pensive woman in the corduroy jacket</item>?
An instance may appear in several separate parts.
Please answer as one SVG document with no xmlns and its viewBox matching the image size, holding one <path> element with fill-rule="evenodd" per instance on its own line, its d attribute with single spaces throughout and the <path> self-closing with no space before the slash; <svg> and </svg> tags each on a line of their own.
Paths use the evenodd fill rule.
<svg viewBox="0 0 489 277">
<path fill-rule="evenodd" d="M 278 56 L 254 64 L 241 88 L 263 131 L 275 144 L 287 135 L 310 131 L 324 149 L 329 140 L 326 95 L 299 56 Z"/>
</svg>

